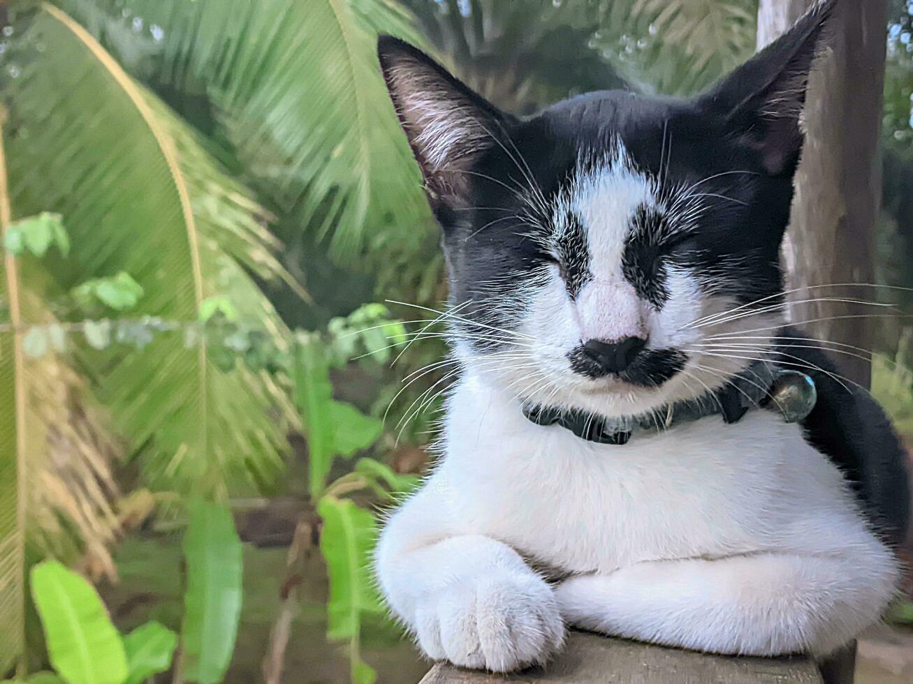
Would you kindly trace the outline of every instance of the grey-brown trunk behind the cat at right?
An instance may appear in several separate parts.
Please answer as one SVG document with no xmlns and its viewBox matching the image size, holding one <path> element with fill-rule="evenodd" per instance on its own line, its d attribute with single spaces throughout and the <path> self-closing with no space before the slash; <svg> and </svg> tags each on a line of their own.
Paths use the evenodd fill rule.
<svg viewBox="0 0 913 684">
<path fill-rule="evenodd" d="M 758 47 L 771 43 L 811 5 L 813 0 L 760 0 Z M 791 290 L 875 282 L 887 0 L 844 0 L 833 24 L 832 50 L 813 74 L 805 109 L 805 150 L 783 249 Z M 874 300 L 872 288 L 801 289 L 790 294 L 790 316 L 812 337 L 873 347 L 879 319 L 833 317 L 876 313 L 873 307 L 804 301 L 814 297 Z M 866 360 L 832 356 L 846 378 L 869 386 Z"/>
</svg>

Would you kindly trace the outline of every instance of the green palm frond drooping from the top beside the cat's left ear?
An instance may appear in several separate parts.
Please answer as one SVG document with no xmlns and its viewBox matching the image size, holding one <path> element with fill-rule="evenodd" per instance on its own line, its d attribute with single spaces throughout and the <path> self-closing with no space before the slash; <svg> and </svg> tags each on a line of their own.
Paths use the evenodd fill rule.
<svg viewBox="0 0 913 684">
<path fill-rule="evenodd" d="M 334 254 L 355 260 L 381 224 L 404 241 L 421 227 L 419 176 L 375 55 L 380 31 L 418 40 L 399 5 L 107 3 L 124 22 L 160 36 L 142 78 L 204 91 L 246 182 L 292 212 L 302 230 L 328 238 Z"/>
</svg>

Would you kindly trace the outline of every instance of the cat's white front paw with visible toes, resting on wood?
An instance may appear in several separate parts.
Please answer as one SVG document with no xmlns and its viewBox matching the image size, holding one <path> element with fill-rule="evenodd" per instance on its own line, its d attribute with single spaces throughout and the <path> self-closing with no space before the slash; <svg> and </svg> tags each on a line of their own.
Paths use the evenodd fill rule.
<svg viewBox="0 0 913 684">
<path fill-rule="evenodd" d="M 451 586 L 418 608 L 415 631 L 430 658 L 493 672 L 544 662 L 564 641 L 551 587 L 531 573 Z"/>
</svg>

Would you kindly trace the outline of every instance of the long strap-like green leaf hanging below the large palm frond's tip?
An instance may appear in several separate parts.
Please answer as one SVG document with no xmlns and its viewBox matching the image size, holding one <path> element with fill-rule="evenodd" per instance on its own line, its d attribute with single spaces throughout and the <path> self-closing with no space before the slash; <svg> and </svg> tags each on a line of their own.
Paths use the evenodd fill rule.
<svg viewBox="0 0 913 684">
<path fill-rule="evenodd" d="M 241 615 L 241 540 L 231 511 L 193 503 L 184 556 L 184 677 L 212 684 L 222 680 L 231 662 Z"/>
</svg>

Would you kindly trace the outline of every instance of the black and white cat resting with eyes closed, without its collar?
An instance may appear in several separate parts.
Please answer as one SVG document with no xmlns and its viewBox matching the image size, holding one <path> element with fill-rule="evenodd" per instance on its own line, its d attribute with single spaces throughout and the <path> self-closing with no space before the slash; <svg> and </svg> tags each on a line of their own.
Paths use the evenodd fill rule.
<svg viewBox="0 0 913 684">
<path fill-rule="evenodd" d="M 376 556 L 430 658 L 511 670 L 561 648 L 566 626 L 824 656 L 894 596 L 897 438 L 783 327 L 778 254 L 833 6 L 703 97 L 596 92 L 531 119 L 381 39 L 444 232 L 463 368 L 443 457 Z M 766 390 L 771 367 L 815 380 L 801 423 L 722 406 L 665 422 L 719 403 L 734 378 Z M 583 428 L 539 424 L 543 410 Z M 658 429 L 627 443 L 586 432 L 645 417 Z"/>
</svg>

